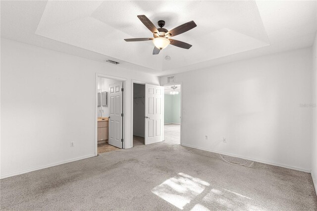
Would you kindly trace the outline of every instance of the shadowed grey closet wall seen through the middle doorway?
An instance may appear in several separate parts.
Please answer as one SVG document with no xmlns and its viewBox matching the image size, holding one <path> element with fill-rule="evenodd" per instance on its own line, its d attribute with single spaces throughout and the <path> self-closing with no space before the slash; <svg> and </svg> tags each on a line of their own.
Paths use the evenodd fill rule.
<svg viewBox="0 0 317 211">
<path fill-rule="evenodd" d="M 137 99 L 134 99 L 137 98 Z M 144 137 L 145 85 L 133 84 L 133 135 Z"/>
</svg>

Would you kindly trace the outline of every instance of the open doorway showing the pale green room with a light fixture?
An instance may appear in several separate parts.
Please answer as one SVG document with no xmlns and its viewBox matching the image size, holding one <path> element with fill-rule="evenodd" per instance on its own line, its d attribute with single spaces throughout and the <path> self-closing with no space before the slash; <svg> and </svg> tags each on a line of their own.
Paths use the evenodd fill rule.
<svg viewBox="0 0 317 211">
<path fill-rule="evenodd" d="M 181 85 L 164 86 L 164 140 L 180 144 Z"/>
</svg>

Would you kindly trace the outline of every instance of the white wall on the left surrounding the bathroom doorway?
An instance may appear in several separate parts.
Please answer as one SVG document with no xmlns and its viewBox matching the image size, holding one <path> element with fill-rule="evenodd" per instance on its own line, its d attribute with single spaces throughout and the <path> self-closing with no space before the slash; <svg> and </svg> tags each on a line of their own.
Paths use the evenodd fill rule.
<svg viewBox="0 0 317 211">
<path fill-rule="evenodd" d="M 95 155 L 96 73 L 127 79 L 130 148 L 132 80 L 158 77 L 1 39 L 1 178 Z"/>
</svg>

